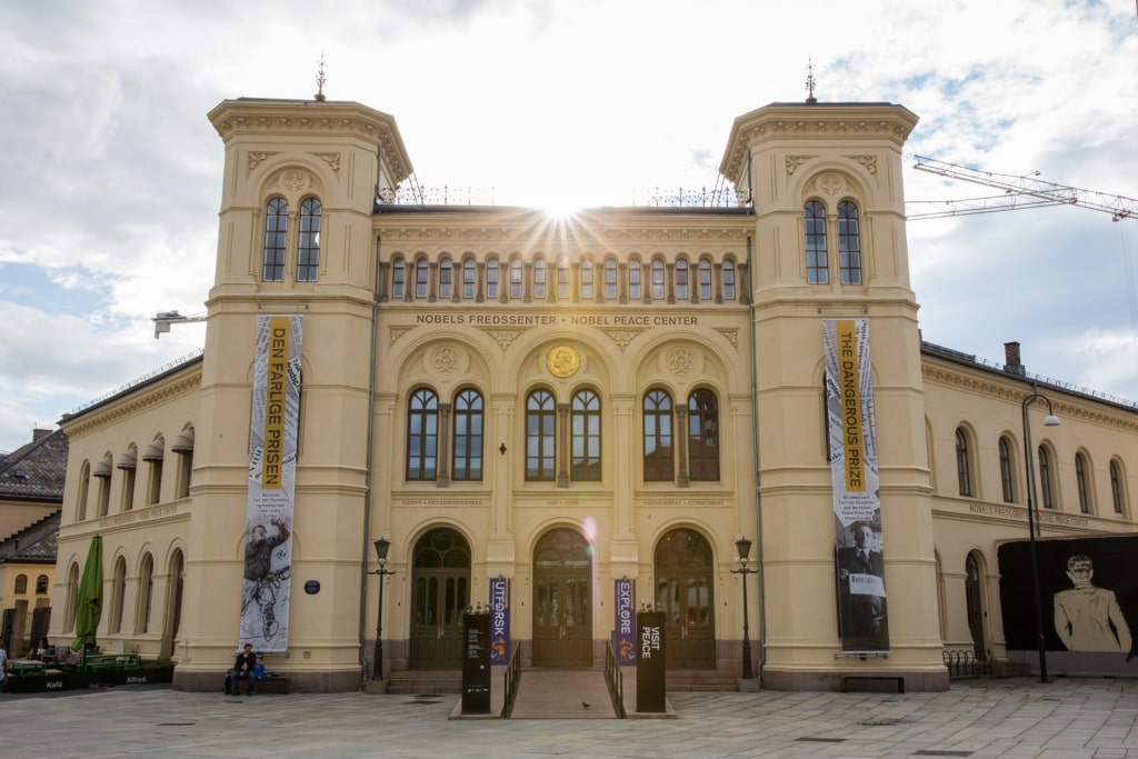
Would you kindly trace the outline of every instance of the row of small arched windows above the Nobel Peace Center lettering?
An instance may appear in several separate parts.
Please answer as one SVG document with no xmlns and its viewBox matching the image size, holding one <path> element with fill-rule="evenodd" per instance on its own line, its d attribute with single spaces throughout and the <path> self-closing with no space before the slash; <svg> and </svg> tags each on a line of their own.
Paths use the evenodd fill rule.
<svg viewBox="0 0 1138 759">
<path fill-rule="evenodd" d="M 633 256 L 627 265 L 616 258 L 594 263 L 566 258 L 533 262 L 513 258 L 485 263 L 473 256 L 438 263 L 426 256 L 395 256 L 390 263 L 389 295 L 394 300 L 572 300 L 619 303 L 732 303 L 741 299 L 739 267 L 727 258 L 715 264 L 709 258 L 665 263 L 655 257 L 642 262 Z"/>
</svg>

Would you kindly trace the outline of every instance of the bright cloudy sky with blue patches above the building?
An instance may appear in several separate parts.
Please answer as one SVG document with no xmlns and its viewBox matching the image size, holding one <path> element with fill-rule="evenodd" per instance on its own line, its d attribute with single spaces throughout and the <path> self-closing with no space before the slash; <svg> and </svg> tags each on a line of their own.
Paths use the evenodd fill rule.
<svg viewBox="0 0 1138 759">
<path fill-rule="evenodd" d="M 199 349 L 239 97 L 396 118 L 424 188 L 629 205 L 714 188 L 735 117 L 807 97 L 921 121 L 906 198 L 996 192 L 926 156 L 1138 198 L 1133 0 L 0 0 L 0 451 Z M 1131 204 L 1138 200 L 1130 200 Z M 914 203 L 915 213 L 927 204 Z M 925 340 L 1138 401 L 1138 220 L 910 221 Z"/>
</svg>

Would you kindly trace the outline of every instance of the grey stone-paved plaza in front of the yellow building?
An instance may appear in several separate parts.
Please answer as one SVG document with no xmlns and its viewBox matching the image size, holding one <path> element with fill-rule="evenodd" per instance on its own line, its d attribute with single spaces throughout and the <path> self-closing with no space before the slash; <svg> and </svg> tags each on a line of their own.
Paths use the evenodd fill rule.
<svg viewBox="0 0 1138 759">
<path fill-rule="evenodd" d="M 0 746 L 13 759 L 1138 757 L 1138 682 L 668 698 L 676 719 L 455 720 L 457 695 L 236 698 L 155 686 L 0 695 Z"/>
</svg>

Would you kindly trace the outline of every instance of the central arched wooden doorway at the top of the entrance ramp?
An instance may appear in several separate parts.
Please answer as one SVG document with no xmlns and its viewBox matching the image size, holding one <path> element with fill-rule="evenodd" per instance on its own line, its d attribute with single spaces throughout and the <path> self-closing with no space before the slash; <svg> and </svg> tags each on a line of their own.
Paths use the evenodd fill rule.
<svg viewBox="0 0 1138 759">
<path fill-rule="evenodd" d="M 534 666 L 593 663 L 592 550 L 571 529 L 542 536 L 534 548 Z"/>
</svg>

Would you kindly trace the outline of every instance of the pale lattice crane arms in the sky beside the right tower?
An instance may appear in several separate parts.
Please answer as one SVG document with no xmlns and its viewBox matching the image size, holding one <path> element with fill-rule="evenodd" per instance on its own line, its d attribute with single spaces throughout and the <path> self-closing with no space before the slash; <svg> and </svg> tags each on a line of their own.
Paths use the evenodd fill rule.
<svg viewBox="0 0 1138 759">
<path fill-rule="evenodd" d="M 1004 193 L 963 200 L 914 201 L 914 204 L 935 204 L 940 207 L 934 211 L 908 214 L 909 221 L 941 218 L 943 216 L 967 216 L 970 214 L 990 214 L 998 211 L 1036 208 L 1039 206 L 1080 206 L 1111 214 L 1112 221 L 1120 222 L 1125 218 L 1138 221 L 1138 200 L 1133 198 L 1045 182 L 1044 180 L 1036 179 L 1039 176 L 1039 172 L 1025 176 L 997 174 L 950 164 L 947 160 L 925 158 L 924 156 L 916 156 L 916 163 L 913 164 L 913 167 L 918 171 L 929 172 L 930 174 L 947 176 L 948 179 L 997 188 L 1004 190 Z"/>
</svg>

